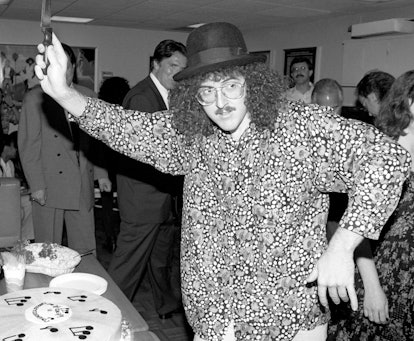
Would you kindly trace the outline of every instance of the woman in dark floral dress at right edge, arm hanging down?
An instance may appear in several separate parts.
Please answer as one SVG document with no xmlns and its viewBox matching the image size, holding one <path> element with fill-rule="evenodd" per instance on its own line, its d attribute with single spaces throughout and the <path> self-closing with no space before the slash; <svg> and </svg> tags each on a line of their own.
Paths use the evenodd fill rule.
<svg viewBox="0 0 414 341">
<path fill-rule="evenodd" d="M 375 125 L 414 158 L 414 70 L 398 77 L 382 99 Z M 368 259 L 361 259 L 368 262 Z M 373 275 L 357 276 L 364 297 L 357 312 L 332 323 L 332 340 L 414 339 L 414 165 L 398 207 L 374 249 Z"/>
</svg>

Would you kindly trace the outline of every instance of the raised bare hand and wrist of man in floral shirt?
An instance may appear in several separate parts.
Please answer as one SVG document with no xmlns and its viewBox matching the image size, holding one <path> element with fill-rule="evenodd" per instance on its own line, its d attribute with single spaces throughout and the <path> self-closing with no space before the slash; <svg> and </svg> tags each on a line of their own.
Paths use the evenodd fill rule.
<svg viewBox="0 0 414 341">
<path fill-rule="evenodd" d="M 39 54 L 36 56 L 36 76 L 39 78 L 44 92 L 72 115 L 80 116 L 86 107 L 86 97 L 67 85 L 65 75 L 68 58 L 54 33 L 52 43 L 47 47 L 47 51 L 45 51 L 43 44 L 39 44 L 37 47 Z M 43 70 L 46 68 L 43 53 L 47 53 L 50 62 L 46 75 L 43 74 Z"/>
</svg>

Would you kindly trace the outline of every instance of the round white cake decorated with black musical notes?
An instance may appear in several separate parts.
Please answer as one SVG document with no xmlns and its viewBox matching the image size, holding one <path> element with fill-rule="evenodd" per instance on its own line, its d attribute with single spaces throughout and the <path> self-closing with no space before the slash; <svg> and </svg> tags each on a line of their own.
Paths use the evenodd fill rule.
<svg viewBox="0 0 414 341">
<path fill-rule="evenodd" d="M 119 341 L 121 312 L 87 291 L 36 288 L 0 296 L 0 340 Z"/>
</svg>

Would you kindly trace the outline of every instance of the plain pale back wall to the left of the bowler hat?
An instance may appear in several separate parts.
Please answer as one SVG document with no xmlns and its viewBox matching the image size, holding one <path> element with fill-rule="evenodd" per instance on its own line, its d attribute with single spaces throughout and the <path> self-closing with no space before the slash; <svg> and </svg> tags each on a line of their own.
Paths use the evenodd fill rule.
<svg viewBox="0 0 414 341">
<path fill-rule="evenodd" d="M 163 39 L 185 44 L 187 33 L 53 23 L 68 45 L 97 48 L 97 85 L 102 71 L 121 76 L 133 86 L 149 71 L 149 57 Z M 37 45 L 43 40 L 39 22 L 0 20 L 0 44 Z"/>
</svg>

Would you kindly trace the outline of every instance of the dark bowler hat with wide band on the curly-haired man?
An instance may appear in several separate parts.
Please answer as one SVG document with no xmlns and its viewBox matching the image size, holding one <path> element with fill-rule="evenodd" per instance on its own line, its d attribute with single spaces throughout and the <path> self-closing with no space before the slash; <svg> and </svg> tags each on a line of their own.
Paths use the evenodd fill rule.
<svg viewBox="0 0 414 341">
<path fill-rule="evenodd" d="M 264 62 L 266 56 L 247 52 L 240 30 L 229 23 L 203 25 L 187 38 L 187 67 L 174 76 L 180 81 L 201 73 L 229 66 Z"/>
</svg>

